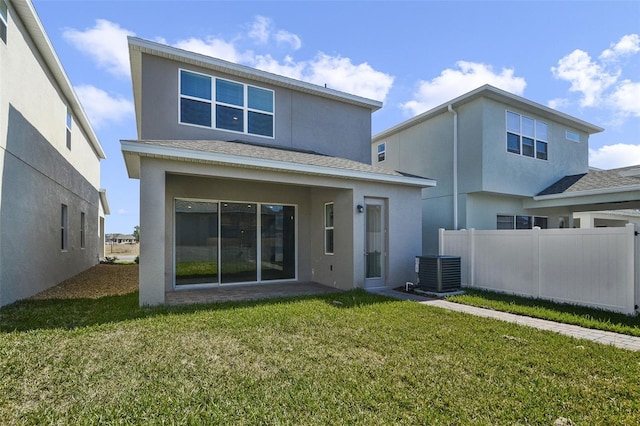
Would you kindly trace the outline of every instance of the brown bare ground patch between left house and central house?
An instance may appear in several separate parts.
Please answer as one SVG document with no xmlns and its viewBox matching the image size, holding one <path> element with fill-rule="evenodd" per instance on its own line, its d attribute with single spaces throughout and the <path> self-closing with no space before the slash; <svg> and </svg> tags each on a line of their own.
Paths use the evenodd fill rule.
<svg viewBox="0 0 640 426">
<path fill-rule="evenodd" d="M 96 265 L 32 299 L 97 299 L 138 290 L 138 265 Z"/>
</svg>

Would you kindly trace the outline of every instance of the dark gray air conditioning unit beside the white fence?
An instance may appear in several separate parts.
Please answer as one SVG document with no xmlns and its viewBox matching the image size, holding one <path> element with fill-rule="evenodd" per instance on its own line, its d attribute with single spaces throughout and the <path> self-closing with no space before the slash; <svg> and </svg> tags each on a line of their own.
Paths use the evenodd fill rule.
<svg viewBox="0 0 640 426">
<path fill-rule="evenodd" d="M 416 272 L 418 287 L 433 293 L 447 293 L 460 290 L 459 256 L 417 256 Z"/>
</svg>

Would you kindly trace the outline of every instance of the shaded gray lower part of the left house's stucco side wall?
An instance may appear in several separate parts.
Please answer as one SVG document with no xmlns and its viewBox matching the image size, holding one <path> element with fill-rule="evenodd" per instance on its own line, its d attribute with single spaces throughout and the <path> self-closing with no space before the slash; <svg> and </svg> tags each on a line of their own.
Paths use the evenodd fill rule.
<svg viewBox="0 0 640 426">
<path fill-rule="evenodd" d="M 98 189 L 13 106 L 0 200 L 0 305 L 32 296 L 98 263 Z M 68 248 L 61 249 L 61 208 Z M 85 213 L 85 247 L 80 216 Z M 96 231 L 96 232 L 93 232 Z"/>
</svg>

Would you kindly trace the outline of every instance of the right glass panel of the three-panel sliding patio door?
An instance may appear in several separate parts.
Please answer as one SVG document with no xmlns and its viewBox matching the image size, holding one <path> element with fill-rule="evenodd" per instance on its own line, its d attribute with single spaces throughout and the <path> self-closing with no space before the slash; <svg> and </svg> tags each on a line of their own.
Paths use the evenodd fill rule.
<svg viewBox="0 0 640 426">
<path fill-rule="evenodd" d="M 261 229 L 262 280 L 295 278 L 295 207 L 262 205 Z"/>
</svg>

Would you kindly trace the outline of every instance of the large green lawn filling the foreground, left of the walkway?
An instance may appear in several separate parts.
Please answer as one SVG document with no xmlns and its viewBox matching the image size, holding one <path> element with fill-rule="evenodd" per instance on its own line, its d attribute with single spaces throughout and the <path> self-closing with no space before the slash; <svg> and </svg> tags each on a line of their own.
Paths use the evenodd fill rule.
<svg viewBox="0 0 640 426">
<path fill-rule="evenodd" d="M 0 310 L 0 424 L 640 422 L 637 353 L 364 291 Z"/>
</svg>

